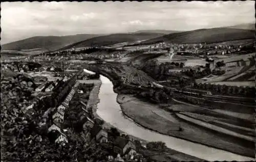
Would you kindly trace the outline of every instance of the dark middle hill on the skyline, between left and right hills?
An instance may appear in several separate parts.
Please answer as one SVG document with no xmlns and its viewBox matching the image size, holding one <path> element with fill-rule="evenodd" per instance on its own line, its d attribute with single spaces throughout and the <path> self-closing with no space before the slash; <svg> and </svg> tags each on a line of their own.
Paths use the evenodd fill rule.
<svg viewBox="0 0 256 162">
<path fill-rule="evenodd" d="M 106 36 L 94 37 L 91 39 L 83 40 L 66 47 L 60 48 L 59 50 L 66 50 L 70 48 L 78 48 L 84 46 L 106 46 L 113 45 L 121 42 L 133 42 L 139 40 L 152 39 L 163 36 L 161 33 L 131 33 L 131 34 L 111 34 Z"/>
</svg>

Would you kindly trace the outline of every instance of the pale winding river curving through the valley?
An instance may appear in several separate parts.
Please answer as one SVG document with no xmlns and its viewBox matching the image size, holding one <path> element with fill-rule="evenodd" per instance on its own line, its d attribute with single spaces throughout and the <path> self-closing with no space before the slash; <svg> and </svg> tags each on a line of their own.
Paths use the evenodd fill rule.
<svg viewBox="0 0 256 162">
<path fill-rule="evenodd" d="M 208 161 L 255 160 L 251 157 L 246 157 L 228 151 L 211 148 L 208 146 L 189 142 L 175 137 L 165 136 L 163 134 L 145 129 L 137 125 L 131 119 L 128 119 L 125 116 L 123 116 L 119 103 L 117 103 L 116 101 L 117 94 L 113 91 L 113 84 L 111 83 L 111 81 L 102 75 L 100 75 L 100 80 L 102 84 L 99 92 L 100 101 L 97 105 L 97 114 L 105 122 L 110 123 L 111 125 L 126 132 L 127 134 L 131 134 L 134 137 L 146 141 L 162 141 L 165 142 L 168 148 Z"/>
</svg>

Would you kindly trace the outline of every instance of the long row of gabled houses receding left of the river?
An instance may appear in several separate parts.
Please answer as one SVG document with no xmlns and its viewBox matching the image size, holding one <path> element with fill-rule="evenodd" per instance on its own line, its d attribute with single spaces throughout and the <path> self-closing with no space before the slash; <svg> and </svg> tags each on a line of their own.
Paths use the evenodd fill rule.
<svg viewBox="0 0 256 162">
<path fill-rule="evenodd" d="M 55 142 L 61 145 L 65 145 L 65 143 L 68 142 L 65 131 L 61 128 L 61 124 L 64 120 L 65 110 L 69 108 L 69 102 L 73 98 L 75 89 L 78 85 L 79 82 L 76 82 L 75 85 L 72 87 L 70 93 L 65 98 L 65 100 L 59 106 L 55 107 L 55 109 L 53 110 L 53 124 L 48 128 L 48 132 L 54 131 L 55 133 L 57 133 L 57 138 Z"/>
</svg>

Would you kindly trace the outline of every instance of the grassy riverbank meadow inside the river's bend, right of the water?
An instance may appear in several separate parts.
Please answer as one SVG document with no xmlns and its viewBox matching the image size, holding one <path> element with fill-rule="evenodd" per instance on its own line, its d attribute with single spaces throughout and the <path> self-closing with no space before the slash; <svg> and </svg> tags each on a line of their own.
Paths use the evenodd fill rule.
<svg viewBox="0 0 256 162">
<path fill-rule="evenodd" d="M 117 102 L 120 104 L 123 114 L 144 128 L 243 156 L 254 156 L 253 146 L 248 148 L 250 143 L 245 140 L 227 137 L 225 134 L 186 123 L 176 116 L 159 109 L 158 106 L 142 102 L 129 95 L 119 94 Z M 179 126 L 183 129 L 182 131 L 178 130 Z"/>
</svg>

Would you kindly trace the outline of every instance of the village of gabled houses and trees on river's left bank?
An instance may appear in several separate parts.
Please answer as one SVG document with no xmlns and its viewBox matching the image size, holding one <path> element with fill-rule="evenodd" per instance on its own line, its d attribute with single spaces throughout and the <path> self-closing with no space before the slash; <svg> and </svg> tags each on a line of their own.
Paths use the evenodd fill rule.
<svg viewBox="0 0 256 162">
<path fill-rule="evenodd" d="M 8 92 L 5 97 L 10 96 L 11 99 L 18 100 L 17 95 L 23 92 L 23 88 L 28 87 L 30 90 L 26 98 L 21 98 L 24 102 L 19 102 L 22 106 L 20 111 L 19 108 L 13 111 L 21 113 L 17 118 L 19 116 L 23 120 L 27 118 L 35 124 L 36 129 L 40 132 L 39 141 L 44 141 L 42 139 L 46 136 L 50 142 L 56 143 L 59 147 L 67 147 L 72 145 L 70 144 L 72 141 L 70 141 L 70 134 L 83 134 L 81 139 L 84 139 L 84 147 L 99 144 L 102 145 L 103 150 L 107 148 L 114 150 L 108 151 L 108 160 L 126 161 L 130 159 L 136 161 L 143 159 L 143 156 L 138 153 L 138 146 L 142 147 L 141 141 L 125 133 L 120 133 L 114 127 L 105 126 L 104 121 L 97 118 L 96 107 L 99 101 L 100 87 L 97 73 L 81 69 L 73 75 L 67 73 L 63 74 L 62 79 L 49 81 L 47 77 L 42 76 L 31 79 L 28 77 L 30 75 L 25 74 L 24 71 L 17 73 L 16 68 L 12 65 L 3 66 L 2 90 L 4 94 L 5 90 L 10 88 L 8 85 L 17 84 L 18 80 L 22 86 L 18 86 L 18 89 L 12 88 L 12 91 Z M 39 69 L 44 71 L 46 68 L 40 67 Z M 53 70 L 49 69 L 49 71 Z M 31 71 L 29 72 L 31 74 Z M 7 102 L 2 104 L 7 104 Z M 30 135 L 30 138 L 33 136 Z"/>
</svg>

